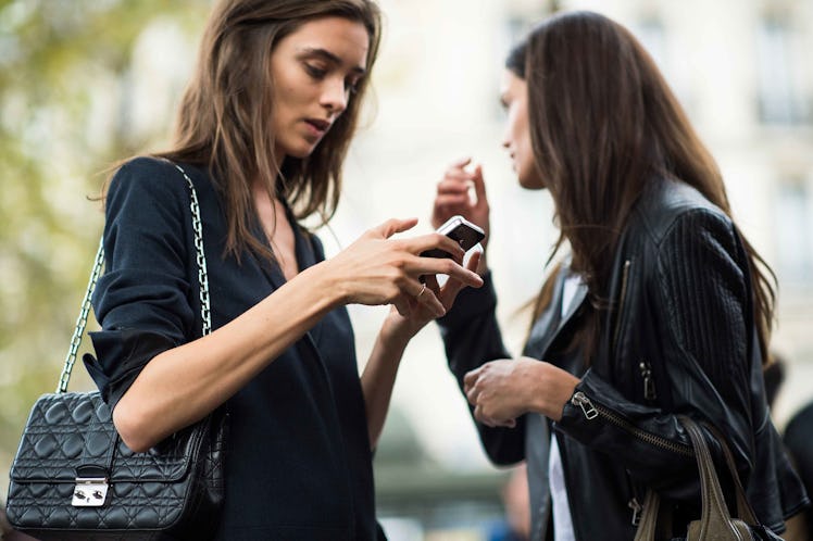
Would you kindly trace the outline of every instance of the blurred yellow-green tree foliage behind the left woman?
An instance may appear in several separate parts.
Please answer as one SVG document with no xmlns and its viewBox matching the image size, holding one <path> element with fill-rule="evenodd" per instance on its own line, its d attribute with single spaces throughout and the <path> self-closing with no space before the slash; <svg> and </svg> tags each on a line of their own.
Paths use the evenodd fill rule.
<svg viewBox="0 0 813 541">
<path fill-rule="evenodd" d="M 0 489 L 30 405 L 57 385 L 102 229 L 92 198 L 105 169 L 172 123 L 129 129 L 134 46 L 159 20 L 196 36 L 209 8 L 0 0 Z M 112 118 L 100 113 L 105 100 L 117 104 Z M 80 365 L 75 376 L 73 389 L 90 386 Z"/>
</svg>

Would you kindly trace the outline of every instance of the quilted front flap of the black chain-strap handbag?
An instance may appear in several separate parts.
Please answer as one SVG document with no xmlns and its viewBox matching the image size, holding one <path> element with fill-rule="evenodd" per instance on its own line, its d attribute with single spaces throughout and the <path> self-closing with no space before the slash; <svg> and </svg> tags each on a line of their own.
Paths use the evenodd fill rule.
<svg viewBox="0 0 813 541">
<path fill-rule="evenodd" d="M 113 470 L 111 482 L 175 481 L 193 462 L 184 458 L 193 443 L 171 436 L 134 453 L 118 438 L 99 392 L 43 394 L 32 408 L 10 477 L 15 482 L 74 482 L 78 466 L 97 465 Z"/>
</svg>

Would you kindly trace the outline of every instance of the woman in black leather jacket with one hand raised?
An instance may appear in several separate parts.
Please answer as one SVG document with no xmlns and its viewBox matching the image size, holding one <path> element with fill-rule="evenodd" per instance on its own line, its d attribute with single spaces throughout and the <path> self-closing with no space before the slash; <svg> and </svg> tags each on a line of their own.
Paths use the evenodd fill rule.
<svg viewBox="0 0 813 541">
<path fill-rule="evenodd" d="M 502 343 L 488 270 L 439 324 L 489 457 L 527 461 L 531 539 L 631 540 L 648 489 L 685 536 L 700 491 L 678 415 L 722 431 L 758 518 L 781 532 L 809 501 L 764 397 L 773 275 L 655 64 L 617 23 L 565 13 L 512 51 L 501 97 L 520 184 L 553 199 L 561 263 L 522 356 Z M 439 183 L 433 221 L 488 230 L 468 163 Z"/>
</svg>

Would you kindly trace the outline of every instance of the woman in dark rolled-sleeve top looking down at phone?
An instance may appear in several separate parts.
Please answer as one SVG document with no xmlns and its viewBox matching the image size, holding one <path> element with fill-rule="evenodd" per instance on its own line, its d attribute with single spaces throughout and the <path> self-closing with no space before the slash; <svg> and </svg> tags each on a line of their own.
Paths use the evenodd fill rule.
<svg viewBox="0 0 813 541">
<path fill-rule="evenodd" d="M 390 219 L 329 261 L 299 225 L 335 210 L 379 32 L 372 0 L 221 1 L 172 149 L 126 162 L 108 188 L 89 369 L 134 451 L 225 404 L 217 539 L 380 536 L 371 450 L 403 350 L 417 322 L 481 284 L 453 241 L 390 238 L 415 219 Z M 200 202 L 213 324 L 203 338 L 190 196 L 175 164 Z M 418 255 L 435 248 L 452 257 Z M 445 289 L 439 273 L 451 277 Z M 361 378 L 349 303 L 395 306 Z"/>
</svg>

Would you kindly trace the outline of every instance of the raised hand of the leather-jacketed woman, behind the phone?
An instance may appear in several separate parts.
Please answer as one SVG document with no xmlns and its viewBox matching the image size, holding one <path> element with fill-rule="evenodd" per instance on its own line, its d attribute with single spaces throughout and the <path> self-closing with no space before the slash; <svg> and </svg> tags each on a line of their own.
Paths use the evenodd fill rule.
<svg viewBox="0 0 813 541">
<path fill-rule="evenodd" d="M 452 162 L 446 169 L 443 178 L 437 186 L 437 194 L 431 209 L 431 225 L 437 229 L 443 222 L 460 214 L 486 231 L 486 238 L 480 242 L 485 249 L 489 231 L 486 184 L 483 179 L 483 167 L 479 164 L 473 171 L 466 169 L 471 163 L 471 158 L 463 158 Z M 474 187 L 474 200 L 470 196 L 472 187 Z"/>
</svg>

